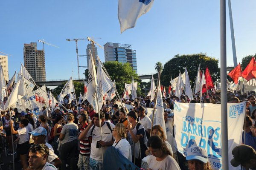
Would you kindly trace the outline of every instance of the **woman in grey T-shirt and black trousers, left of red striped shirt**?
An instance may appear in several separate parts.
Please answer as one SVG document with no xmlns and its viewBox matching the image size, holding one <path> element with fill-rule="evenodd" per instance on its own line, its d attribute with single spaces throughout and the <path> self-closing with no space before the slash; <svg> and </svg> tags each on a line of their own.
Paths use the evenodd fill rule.
<svg viewBox="0 0 256 170">
<path fill-rule="evenodd" d="M 77 136 L 78 136 L 78 126 L 73 123 L 74 122 L 73 113 L 67 114 L 67 124 L 65 124 L 61 129 L 61 134 L 59 140 L 62 142 L 61 145 L 61 156 L 60 159 L 62 161 L 61 169 L 66 169 L 66 159 L 70 157 L 70 170 L 76 169 L 76 150 L 77 150 Z"/>
</svg>

